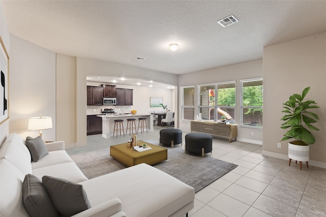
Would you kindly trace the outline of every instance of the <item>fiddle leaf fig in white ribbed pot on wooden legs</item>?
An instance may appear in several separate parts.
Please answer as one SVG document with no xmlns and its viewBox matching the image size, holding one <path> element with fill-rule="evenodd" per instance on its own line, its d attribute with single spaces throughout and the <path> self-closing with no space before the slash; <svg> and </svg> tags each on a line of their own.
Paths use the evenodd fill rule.
<svg viewBox="0 0 326 217">
<path fill-rule="evenodd" d="M 319 130 L 312 125 L 312 123 L 317 122 L 319 117 L 316 113 L 311 112 L 312 109 L 319 108 L 319 106 L 316 105 L 315 101 L 304 101 L 309 90 L 310 87 L 306 87 L 302 91 L 302 95 L 293 94 L 290 96 L 289 100 L 283 103 L 285 110 L 282 112 L 286 114 L 281 118 L 285 121 L 281 128 L 288 129 L 281 141 L 294 139 L 289 142 L 288 147 L 289 165 L 291 160 L 300 161 L 300 169 L 303 161 L 307 163 L 308 168 L 309 145 L 316 141 L 310 130 Z"/>
</svg>

